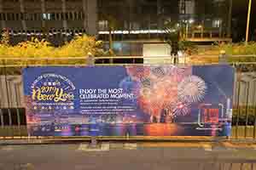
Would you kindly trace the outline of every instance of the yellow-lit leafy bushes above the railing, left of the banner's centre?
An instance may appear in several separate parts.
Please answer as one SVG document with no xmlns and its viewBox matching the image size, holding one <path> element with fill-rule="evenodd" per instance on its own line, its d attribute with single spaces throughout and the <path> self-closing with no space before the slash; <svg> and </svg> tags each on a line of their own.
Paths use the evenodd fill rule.
<svg viewBox="0 0 256 170">
<path fill-rule="evenodd" d="M 4 34 L 4 33 L 3 33 Z M 102 42 L 95 37 L 74 37 L 71 42 L 66 42 L 61 47 L 54 47 L 45 39 L 38 40 L 32 37 L 30 41 L 20 42 L 17 45 L 9 45 L 3 36 L 0 43 L 0 58 L 65 58 L 85 57 L 88 54 L 103 55 Z"/>
</svg>

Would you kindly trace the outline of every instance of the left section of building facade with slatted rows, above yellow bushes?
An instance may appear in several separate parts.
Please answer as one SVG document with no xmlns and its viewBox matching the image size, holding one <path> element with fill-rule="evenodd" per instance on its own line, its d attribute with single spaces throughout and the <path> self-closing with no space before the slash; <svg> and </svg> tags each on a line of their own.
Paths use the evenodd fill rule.
<svg viewBox="0 0 256 170">
<path fill-rule="evenodd" d="M 13 42 L 45 36 L 60 40 L 58 44 L 79 33 L 97 34 L 96 4 L 96 0 L 0 0 L 0 26 L 9 29 Z"/>
</svg>

